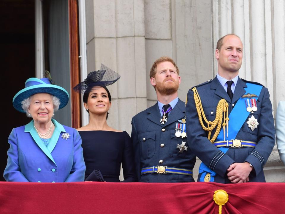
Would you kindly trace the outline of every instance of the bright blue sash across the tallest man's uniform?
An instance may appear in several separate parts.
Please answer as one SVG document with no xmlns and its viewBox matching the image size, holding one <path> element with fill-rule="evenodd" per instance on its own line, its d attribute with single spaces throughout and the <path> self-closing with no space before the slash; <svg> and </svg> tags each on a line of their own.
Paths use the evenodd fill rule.
<svg viewBox="0 0 285 214">
<path fill-rule="evenodd" d="M 247 88 L 244 88 L 246 90 L 245 94 L 248 94 L 248 93 L 255 94 L 259 97 L 261 89 L 263 87 L 262 85 L 256 85 L 252 83 L 246 83 L 246 85 L 247 85 Z M 238 131 L 242 127 L 248 115 L 249 115 L 249 112 L 246 111 L 244 100 L 240 97 L 238 99 L 238 102 L 235 104 L 235 108 L 233 108 L 231 113 L 229 114 L 229 127 L 228 127 L 229 132 L 228 132 L 228 137 L 226 135 L 226 138 L 225 138 L 226 141 L 235 139 L 235 137 L 238 134 Z M 234 121 L 234 122 L 231 123 L 231 121 Z M 216 141 L 224 141 L 224 130 L 223 129 L 221 129 Z M 219 147 L 219 150 L 221 150 L 224 153 L 226 153 L 228 149 L 229 149 L 228 147 Z M 210 173 L 211 175 L 210 182 L 214 181 L 214 176 L 216 175 L 216 172 L 211 170 L 203 162 L 200 164 L 199 173 L 202 173 L 200 177 L 200 182 L 204 182 L 204 178 L 207 173 Z"/>
</svg>

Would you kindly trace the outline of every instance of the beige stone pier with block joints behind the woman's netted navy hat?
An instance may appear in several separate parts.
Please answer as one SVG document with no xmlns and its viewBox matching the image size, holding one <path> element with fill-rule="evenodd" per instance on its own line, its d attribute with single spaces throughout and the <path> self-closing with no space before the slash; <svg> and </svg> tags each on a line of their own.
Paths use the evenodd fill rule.
<svg viewBox="0 0 285 214">
<path fill-rule="evenodd" d="M 101 63 L 121 75 L 108 86 L 108 124 L 131 133 L 131 119 L 146 108 L 143 0 L 86 1 L 87 69 Z"/>
</svg>

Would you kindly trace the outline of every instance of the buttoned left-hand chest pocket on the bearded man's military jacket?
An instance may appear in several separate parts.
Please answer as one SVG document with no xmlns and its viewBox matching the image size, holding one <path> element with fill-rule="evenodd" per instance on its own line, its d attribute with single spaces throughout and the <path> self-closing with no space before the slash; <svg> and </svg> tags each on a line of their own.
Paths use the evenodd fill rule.
<svg viewBox="0 0 285 214">
<path fill-rule="evenodd" d="M 148 131 L 138 134 L 141 161 L 153 157 L 155 153 L 155 138 L 156 131 Z"/>
</svg>

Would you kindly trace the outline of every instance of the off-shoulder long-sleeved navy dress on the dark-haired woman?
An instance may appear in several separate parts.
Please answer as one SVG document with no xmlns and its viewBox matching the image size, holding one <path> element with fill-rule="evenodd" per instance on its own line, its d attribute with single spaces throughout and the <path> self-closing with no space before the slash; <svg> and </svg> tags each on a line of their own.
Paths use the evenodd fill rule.
<svg viewBox="0 0 285 214">
<path fill-rule="evenodd" d="M 107 182 L 120 182 L 121 163 L 124 182 L 136 182 L 134 155 L 130 136 L 126 131 L 78 131 L 82 139 L 86 165 L 85 178 L 99 169 Z"/>
</svg>

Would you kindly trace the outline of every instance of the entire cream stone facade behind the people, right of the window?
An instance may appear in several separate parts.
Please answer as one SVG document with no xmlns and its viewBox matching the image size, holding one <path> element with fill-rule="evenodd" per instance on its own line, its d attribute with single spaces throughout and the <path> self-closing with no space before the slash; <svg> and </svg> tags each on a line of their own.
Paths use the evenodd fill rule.
<svg viewBox="0 0 285 214">
<path fill-rule="evenodd" d="M 132 117 L 156 103 L 149 70 L 157 58 L 170 56 L 177 63 L 178 95 L 185 101 L 191 86 L 215 77 L 216 43 L 228 33 L 244 44 L 239 76 L 269 89 L 274 117 L 285 100 L 283 0 L 86 0 L 85 11 L 88 72 L 104 63 L 121 75 L 108 87 L 113 128 L 130 134 Z M 285 182 L 276 146 L 264 171 L 267 182 Z"/>
</svg>

